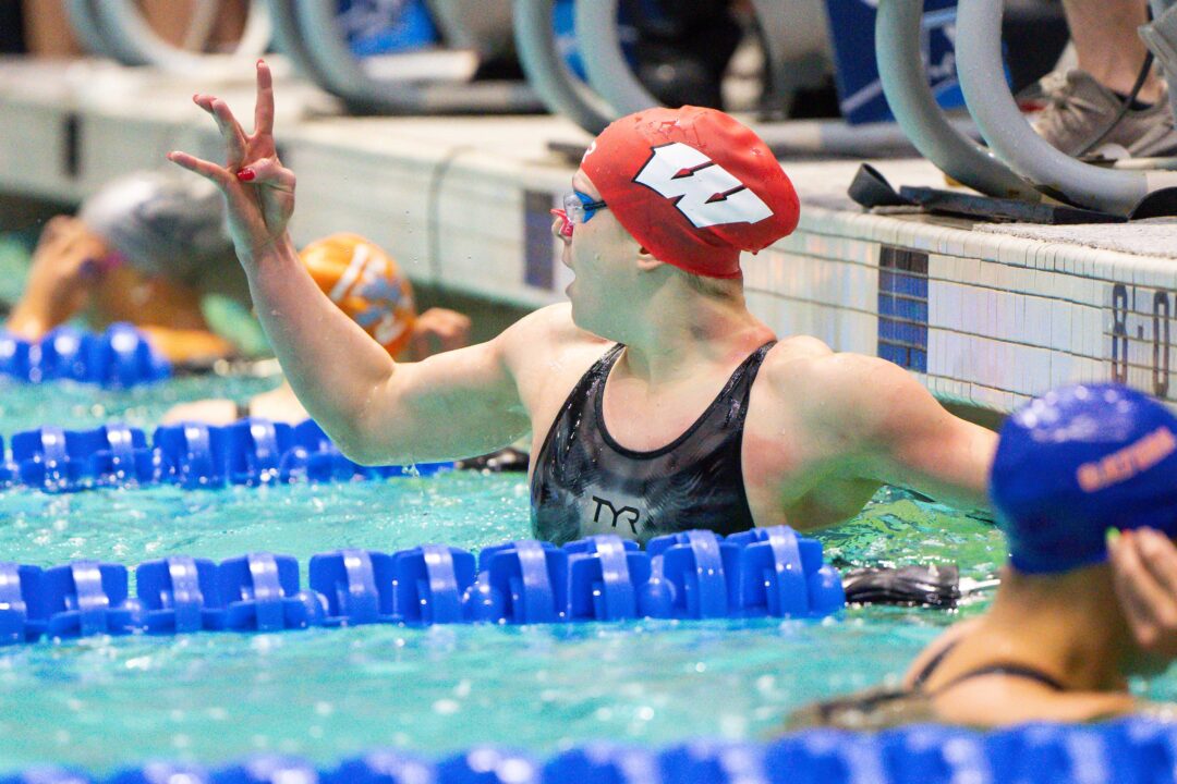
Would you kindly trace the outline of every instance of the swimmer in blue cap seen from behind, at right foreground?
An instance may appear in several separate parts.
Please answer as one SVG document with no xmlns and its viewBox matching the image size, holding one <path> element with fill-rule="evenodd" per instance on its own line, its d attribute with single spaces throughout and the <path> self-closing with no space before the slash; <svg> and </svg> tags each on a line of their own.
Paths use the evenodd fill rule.
<svg viewBox="0 0 1177 784">
<path fill-rule="evenodd" d="M 1133 637 L 1108 538 L 1177 536 L 1177 417 L 1113 384 L 1048 393 L 1006 421 L 990 492 L 1010 557 L 989 611 L 924 650 L 902 689 L 805 708 L 793 726 L 1085 722 L 1148 708 L 1125 678 L 1168 658 Z"/>
</svg>

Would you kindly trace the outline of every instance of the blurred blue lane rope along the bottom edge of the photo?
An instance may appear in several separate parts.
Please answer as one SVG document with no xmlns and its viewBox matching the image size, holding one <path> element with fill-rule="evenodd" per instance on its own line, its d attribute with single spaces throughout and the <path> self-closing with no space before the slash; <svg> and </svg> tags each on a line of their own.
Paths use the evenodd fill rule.
<svg viewBox="0 0 1177 784">
<path fill-rule="evenodd" d="M 377 750 L 339 765 L 274 755 L 208 770 L 152 763 L 106 778 L 36 769 L 0 784 L 1052 784 L 1177 782 L 1177 725 L 1025 724 L 992 732 L 913 725 L 877 735 L 806 730 L 767 743 L 691 741 L 666 749 L 590 743 L 541 760 L 476 746 L 430 760 Z"/>
</svg>

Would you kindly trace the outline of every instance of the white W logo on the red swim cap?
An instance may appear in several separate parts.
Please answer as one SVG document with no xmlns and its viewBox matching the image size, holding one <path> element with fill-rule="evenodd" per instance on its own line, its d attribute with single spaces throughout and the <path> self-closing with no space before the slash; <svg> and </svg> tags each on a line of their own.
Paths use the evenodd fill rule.
<svg viewBox="0 0 1177 784">
<path fill-rule="evenodd" d="M 731 172 L 689 145 L 654 147 L 633 177 L 667 199 L 696 228 L 720 223 L 756 223 L 772 215 L 769 206 Z"/>
</svg>

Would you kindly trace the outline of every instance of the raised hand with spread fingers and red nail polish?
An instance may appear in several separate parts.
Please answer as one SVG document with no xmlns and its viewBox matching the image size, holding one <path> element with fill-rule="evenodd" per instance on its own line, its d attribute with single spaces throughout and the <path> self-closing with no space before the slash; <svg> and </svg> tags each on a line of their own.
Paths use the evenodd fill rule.
<svg viewBox="0 0 1177 784">
<path fill-rule="evenodd" d="M 274 86 L 270 67 L 258 60 L 252 134 L 245 133 L 219 98 L 197 94 L 192 101 L 217 121 L 225 139 L 225 165 L 181 152 L 168 153 L 167 159 L 221 189 L 228 203 L 228 226 L 238 257 L 248 266 L 284 237 L 294 212 L 294 173 L 281 165 L 274 148 Z"/>
</svg>

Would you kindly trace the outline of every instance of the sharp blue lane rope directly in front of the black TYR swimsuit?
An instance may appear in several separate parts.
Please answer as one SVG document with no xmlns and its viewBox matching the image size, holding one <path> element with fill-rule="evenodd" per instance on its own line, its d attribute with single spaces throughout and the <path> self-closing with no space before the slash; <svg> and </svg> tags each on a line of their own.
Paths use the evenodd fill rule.
<svg viewBox="0 0 1177 784">
<path fill-rule="evenodd" d="M 0 562 L 0 645 L 368 623 L 812 618 L 845 605 L 820 543 L 787 527 L 753 534 L 725 540 L 687 531 L 656 540 L 658 547 L 645 551 L 612 535 L 563 548 L 524 540 L 488 547 L 477 561 L 443 544 L 393 554 L 339 550 L 311 557 L 308 589 L 299 585 L 299 564 L 287 555 L 251 552 L 219 564 L 172 556 L 135 568 L 135 596 L 128 596 L 121 564 L 75 561 L 40 569 Z M 810 556 L 798 557 L 802 551 Z M 777 577 L 794 572 L 796 579 Z M 729 589 L 756 582 L 759 592 Z"/>
</svg>

